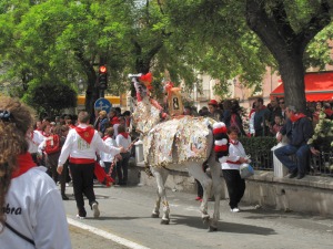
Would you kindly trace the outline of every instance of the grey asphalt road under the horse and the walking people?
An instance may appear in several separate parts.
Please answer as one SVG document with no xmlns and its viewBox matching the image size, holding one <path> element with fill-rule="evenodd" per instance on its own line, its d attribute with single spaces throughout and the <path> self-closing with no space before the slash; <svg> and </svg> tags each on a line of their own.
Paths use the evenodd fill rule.
<svg viewBox="0 0 333 249">
<path fill-rule="evenodd" d="M 230 212 L 228 200 L 221 200 L 219 230 L 209 232 L 201 221 L 195 195 L 168 190 L 170 225 L 151 218 L 155 189 L 148 186 L 95 186 L 101 217 L 75 218 L 72 188 L 64 201 L 74 249 L 332 249 L 333 219 L 270 208 L 241 205 L 242 211 Z M 209 204 L 210 214 L 213 203 Z M 87 203 L 88 207 L 88 203 Z M 332 207 L 333 208 L 333 207 Z M 88 209 L 88 208 L 87 208 Z"/>
</svg>

